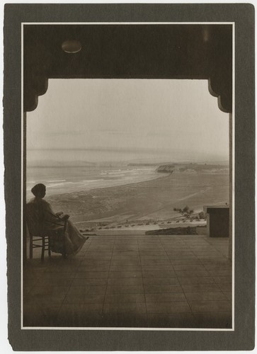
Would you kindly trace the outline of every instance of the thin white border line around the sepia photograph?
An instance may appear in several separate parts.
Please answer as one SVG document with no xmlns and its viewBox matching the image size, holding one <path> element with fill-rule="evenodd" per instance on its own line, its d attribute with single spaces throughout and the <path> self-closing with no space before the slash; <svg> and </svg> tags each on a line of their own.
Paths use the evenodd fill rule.
<svg viewBox="0 0 257 354">
<path fill-rule="evenodd" d="M 232 329 L 23 326 L 23 25 L 232 25 Z M 234 331 L 234 148 L 235 148 L 235 23 L 234 22 L 22 22 L 21 23 L 21 329 L 103 331 Z M 229 130 L 230 134 L 230 130 Z M 230 153 L 230 152 L 229 152 Z M 230 196 L 229 196 L 230 199 Z"/>
</svg>

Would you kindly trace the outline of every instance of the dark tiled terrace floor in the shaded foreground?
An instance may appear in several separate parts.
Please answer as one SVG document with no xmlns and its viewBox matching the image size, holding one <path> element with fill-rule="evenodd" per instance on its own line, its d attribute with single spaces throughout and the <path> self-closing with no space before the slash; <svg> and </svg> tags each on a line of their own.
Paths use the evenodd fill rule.
<svg viewBox="0 0 257 354">
<path fill-rule="evenodd" d="M 219 328 L 232 325 L 228 239 L 90 236 L 69 258 L 23 270 L 23 325 Z"/>
</svg>

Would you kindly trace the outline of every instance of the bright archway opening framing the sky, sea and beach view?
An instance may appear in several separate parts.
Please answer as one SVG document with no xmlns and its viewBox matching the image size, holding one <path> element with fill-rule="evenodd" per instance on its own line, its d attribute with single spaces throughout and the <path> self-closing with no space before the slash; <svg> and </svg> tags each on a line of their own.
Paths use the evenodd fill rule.
<svg viewBox="0 0 257 354">
<path fill-rule="evenodd" d="M 229 115 L 207 80 L 51 79 L 27 118 L 27 198 L 44 183 L 85 234 L 205 227 L 205 205 L 229 205 Z"/>
</svg>

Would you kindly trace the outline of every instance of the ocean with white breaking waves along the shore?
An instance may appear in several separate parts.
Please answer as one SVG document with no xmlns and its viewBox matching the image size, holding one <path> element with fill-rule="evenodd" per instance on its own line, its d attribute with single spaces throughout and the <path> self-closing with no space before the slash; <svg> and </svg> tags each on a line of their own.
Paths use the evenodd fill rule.
<svg viewBox="0 0 257 354">
<path fill-rule="evenodd" d="M 47 195 L 108 188 L 150 181 L 160 177 L 155 166 L 78 166 L 27 167 L 27 200 L 33 198 L 31 188 L 37 183 L 47 187 Z"/>
</svg>

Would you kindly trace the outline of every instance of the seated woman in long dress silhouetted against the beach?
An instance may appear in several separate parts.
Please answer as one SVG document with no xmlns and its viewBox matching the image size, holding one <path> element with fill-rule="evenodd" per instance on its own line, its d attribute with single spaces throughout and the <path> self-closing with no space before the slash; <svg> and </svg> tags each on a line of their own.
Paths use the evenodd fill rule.
<svg viewBox="0 0 257 354">
<path fill-rule="evenodd" d="M 75 254 L 79 252 L 81 247 L 84 245 L 88 237 L 83 236 L 78 229 L 70 222 L 69 215 L 63 215 L 62 212 L 52 211 L 52 207 L 49 202 L 43 200 L 46 193 L 46 187 L 42 183 L 35 185 L 31 192 L 35 195 L 35 198 L 30 200 L 28 204 L 33 204 L 35 211 L 38 215 L 38 220 L 40 222 L 40 227 L 42 228 L 42 234 L 51 234 L 51 232 L 58 232 L 64 228 L 65 222 L 67 222 L 65 229 L 65 251 L 63 243 L 55 239 L 55 236 L 51 238 L 50 248 L 51 251 L 56 253 Z"/>
</svg>

